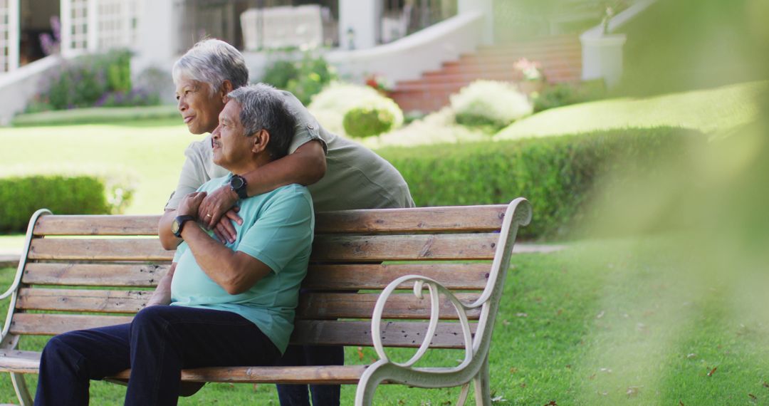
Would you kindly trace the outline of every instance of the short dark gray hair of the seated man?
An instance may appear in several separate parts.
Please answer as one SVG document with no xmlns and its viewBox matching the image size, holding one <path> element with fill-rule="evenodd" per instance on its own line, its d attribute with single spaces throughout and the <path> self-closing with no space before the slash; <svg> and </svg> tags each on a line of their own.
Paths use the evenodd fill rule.
<svg viewBox="0 0 769 406">
<path fill-rule="evenodd" d="M 237 88 L 227 97 L 241 106 L 240 120 L 246 136 L 265 129 L 270 134 L 267 145 L 270 158 L 275 160 L 288 155 L 296 120 L 283 102 L 284 96 L 280 91 L 259 83 Z"/>
</svg>

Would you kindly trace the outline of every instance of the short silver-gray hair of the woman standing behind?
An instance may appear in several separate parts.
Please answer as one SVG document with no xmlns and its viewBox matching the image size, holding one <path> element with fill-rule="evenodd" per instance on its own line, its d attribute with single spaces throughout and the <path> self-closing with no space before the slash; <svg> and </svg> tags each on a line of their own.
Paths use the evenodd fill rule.
<svg viewBox="0 0 769 406">
<path fill-rule="evenodd" d="M 173 69 L 174 82 L 181 78 L 207 83 L 211 95 L 228 80 L 232 88 L 248 85 L 248 68 L 243 55 L 227 42 L 204 39 L 176 61 Z"/>
</svg>

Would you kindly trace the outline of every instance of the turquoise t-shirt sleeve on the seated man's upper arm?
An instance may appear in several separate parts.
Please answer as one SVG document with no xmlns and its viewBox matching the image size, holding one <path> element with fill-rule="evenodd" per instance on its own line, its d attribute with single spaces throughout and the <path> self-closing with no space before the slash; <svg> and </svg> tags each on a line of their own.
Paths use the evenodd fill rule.
<svg viewBox="0 0 769 406">
<path fill-rule="evenodd" d="M 306 189 L 281 190 L 246 231 L 238 251 L 278 274 L 298 255 L 309 255 L 314 225 L 312 201 Z"/>
</svg>

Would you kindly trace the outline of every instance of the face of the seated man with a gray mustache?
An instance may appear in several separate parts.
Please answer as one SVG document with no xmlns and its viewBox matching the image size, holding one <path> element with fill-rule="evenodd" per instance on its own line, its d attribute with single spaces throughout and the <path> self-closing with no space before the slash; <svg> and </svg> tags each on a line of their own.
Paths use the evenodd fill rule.
<svg viewBox="0 0 769 406">
<path fill-rule="evenodd" d="M 219 113 L 219 125 L 211 133 L 214 163 L 233 171 L 251 159 L 253 140 L 240 121 L 241 105 L 230 100 Z"/>
</svg>

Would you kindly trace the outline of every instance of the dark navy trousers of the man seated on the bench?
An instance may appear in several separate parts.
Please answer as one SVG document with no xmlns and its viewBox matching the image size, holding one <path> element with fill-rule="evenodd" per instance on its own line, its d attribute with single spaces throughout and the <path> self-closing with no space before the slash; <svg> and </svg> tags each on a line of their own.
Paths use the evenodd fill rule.
<svg viewBox="0 0 769 406">
<path fill-rule="evenodd" d="M 177 404 L 181 369 L 272 365 L 267 336 L 231 311 L 151 306 L 131 324 L 71 331 L 48 341 L 36 405 L 88 404 L 88 384 L 131 368 L 125 404 Z"/>
</svg>

